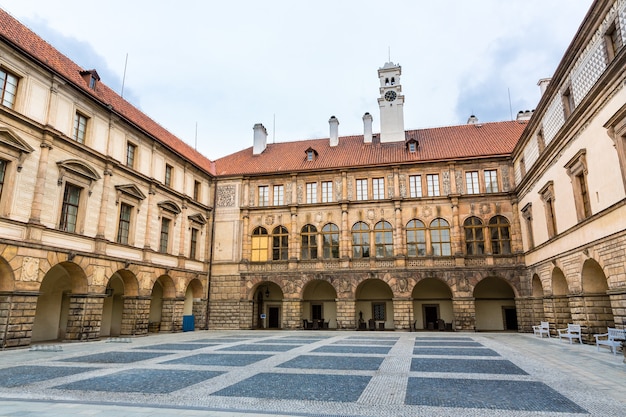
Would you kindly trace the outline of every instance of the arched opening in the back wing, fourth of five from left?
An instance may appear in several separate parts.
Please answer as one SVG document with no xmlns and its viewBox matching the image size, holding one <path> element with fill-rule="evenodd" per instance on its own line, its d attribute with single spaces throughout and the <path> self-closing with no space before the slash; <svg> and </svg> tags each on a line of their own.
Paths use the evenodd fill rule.
<svg viewBox="0 0 626 417">
<path fill-rule="evenodd" d="M 452 290 L 445 281 L 438 278 L 420 280 L 411 293 L 413 299 L 412 323 L 416 330 L 445 329 L 445 323 L 452 323 L 454 312 L 452 307 Z M 450 325 L 451 327 L 451 325 Z"/>
</svg>

